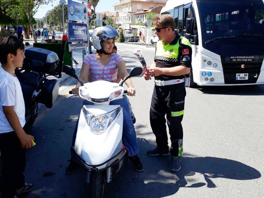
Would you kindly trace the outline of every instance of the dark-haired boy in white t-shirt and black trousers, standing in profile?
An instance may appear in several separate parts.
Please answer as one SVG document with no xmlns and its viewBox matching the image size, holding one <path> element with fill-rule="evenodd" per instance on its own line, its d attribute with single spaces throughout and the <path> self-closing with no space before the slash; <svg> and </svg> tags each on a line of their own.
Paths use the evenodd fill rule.
<svg viewBox="0 0 264 198">
<path fill-rule="evenodd" d="M 0 36 L 0 149 L 3 168 L 0 191 L 2 198 L 13 198 L 32 190 L 25 183 L 26 150 L 34 137 L 25 133 L 25 103 L 19 80 L 14 74 L 22 67 L 24 44 L 16 36 Z"/>
</svg>

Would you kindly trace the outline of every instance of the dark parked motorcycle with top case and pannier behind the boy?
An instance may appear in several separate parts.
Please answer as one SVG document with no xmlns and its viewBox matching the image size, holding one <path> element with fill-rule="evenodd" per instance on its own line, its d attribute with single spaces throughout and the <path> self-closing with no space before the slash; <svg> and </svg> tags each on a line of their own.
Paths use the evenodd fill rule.
<svg viewBox="0 0 264 198">
<path fill-rule="evenodd" d="M 62 55 L 67 38 L 62 41 Z M 63 61 L 50 50 L 25 47 L 25 59 L 22 68 L 16 68 L 25 101 L 25 131 L 29 132 L 38 116 L 39 103 L 51 108 L 59 93 L 59 82 L 48 76 L 61 77 Z M 63 57 L 63 56 L 62 56 Z M 59 67 L 58 72 L 54 71 Z"/>
</svg>

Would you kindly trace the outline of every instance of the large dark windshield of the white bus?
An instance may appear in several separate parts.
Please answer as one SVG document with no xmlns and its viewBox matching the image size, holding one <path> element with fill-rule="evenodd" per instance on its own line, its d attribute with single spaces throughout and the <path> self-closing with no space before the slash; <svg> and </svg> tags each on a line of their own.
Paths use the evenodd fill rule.
<svg viewBox="0 0 264 198">
<path fill-rule="evenodd" d="M 264 3 L 254 1 L 197 1 L 203 45 L 216 37 L 264 34 Z"/>
</svg>

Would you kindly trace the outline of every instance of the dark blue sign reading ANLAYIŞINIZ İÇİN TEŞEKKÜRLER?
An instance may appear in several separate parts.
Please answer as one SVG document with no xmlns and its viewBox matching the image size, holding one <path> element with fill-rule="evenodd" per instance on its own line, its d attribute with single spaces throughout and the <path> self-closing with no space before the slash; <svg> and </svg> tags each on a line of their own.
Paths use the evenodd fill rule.
<svg viewBox="0 0 264 198">
<path fill-rule="evenodd" d="M 68 23 L 68 42 L 87 41 L 87 25 L 82 23 Z"/>
</svg>

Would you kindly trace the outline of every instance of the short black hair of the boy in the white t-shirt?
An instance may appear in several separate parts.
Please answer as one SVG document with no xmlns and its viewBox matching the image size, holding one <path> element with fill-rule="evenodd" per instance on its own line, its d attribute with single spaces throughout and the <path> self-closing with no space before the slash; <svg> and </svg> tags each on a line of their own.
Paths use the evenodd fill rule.
<svg viewBox="0 0 264 198">
<path fill-rule="evenodd" d="M 23 42 L 12 35 L 0 36 L 0 62 L 1 64 L 7 63 L 7 55 L 14 54 L 16 56 L 16 51 L 18 49 L 24 50 L 25 46 Z"/>
</svg>

